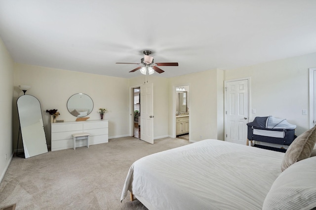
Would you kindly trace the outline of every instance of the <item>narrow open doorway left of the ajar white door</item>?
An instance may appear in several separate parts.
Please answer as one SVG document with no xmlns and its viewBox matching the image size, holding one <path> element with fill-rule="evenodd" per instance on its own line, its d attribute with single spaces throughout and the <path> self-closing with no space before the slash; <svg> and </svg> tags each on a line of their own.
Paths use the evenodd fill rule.
<svg viewBox="0 0 316 210">
<path fill-rule="evenodd" d="M 140 139 L 140 87 L 133 88 L 134 126 L 133 136 Z"/>
</svg>

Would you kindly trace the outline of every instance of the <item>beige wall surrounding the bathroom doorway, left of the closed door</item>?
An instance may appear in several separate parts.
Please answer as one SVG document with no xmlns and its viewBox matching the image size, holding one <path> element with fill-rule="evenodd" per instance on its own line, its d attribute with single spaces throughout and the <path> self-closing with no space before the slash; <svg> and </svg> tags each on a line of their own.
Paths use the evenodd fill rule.
<svg viewBox="0 0 316 210">
<path fill-rule="evenodd" d="M 223 89 L 218 89 L 218 83 L 223 84 L 222 78 L 223 72 L 218 69 L 169 78 L 170 136 L 175 136 L 175 87 L 189 85 L 190 141 L 223 138 L 223 132 L 218 133 L 217 129 L 217 121 L 223 121 L 223 108 L 221 108 L 223 99 L 220 100 Z M 217 79 L 221 81 L 217 81 Z"/>
</svg>

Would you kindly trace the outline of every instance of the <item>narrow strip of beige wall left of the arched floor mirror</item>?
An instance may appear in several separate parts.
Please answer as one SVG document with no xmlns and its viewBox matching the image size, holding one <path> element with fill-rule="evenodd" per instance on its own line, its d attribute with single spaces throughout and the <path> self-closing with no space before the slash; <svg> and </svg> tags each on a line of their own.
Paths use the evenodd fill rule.
<svg viewBox="0 0 316 210">
<path fill-rule="evenodd" d="M 13 60 L 0 38 L 0 182 L 10 164 L 12 148 Z M 6 160 L 5 160 L 6 155 Z"/>
</svg>

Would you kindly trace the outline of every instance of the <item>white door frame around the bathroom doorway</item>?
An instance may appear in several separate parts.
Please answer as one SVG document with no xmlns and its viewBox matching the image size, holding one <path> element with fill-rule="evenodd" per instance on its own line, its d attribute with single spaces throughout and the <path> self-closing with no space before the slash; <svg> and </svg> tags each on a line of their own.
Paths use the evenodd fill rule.
<svg viewBox="0 0 316 210">
<path fill-rule="evenodd" d="M 181 87 L 181 86 L 189 86 L 189 94 L 191 94 L 190 90 L 190 83 L 183 83 L 183 84 L 177 84 L 172 86 L 172 130 L 173 134 L 171 138 L 176 138 L 177 137 L 177 131 L 176 131 L 176 110 L 177 110 L 177 102 L 176 102 L 176 87 Z M 191 98 L 191 96 L 190 96 Z M 189 99 L 188 102 L 189 109 L 191 107 L 191 99 Z M 190 142 L 190 132 L 191 132 L 191 118 L 190 118 L 190 110 L 189 110 L 189 142 Z"/>
</svg>

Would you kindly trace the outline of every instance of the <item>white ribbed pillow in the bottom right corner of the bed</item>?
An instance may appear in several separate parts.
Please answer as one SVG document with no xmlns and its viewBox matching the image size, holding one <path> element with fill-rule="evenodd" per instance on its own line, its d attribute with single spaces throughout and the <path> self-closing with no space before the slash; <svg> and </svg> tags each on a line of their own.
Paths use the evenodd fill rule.
<svg viewBox="0 0 316 210">
<path fill-rule="evenodd" d="M 274 181 L 263 210 L 311 210 L 316 208 L 316 157 L 294 163 Z"/>
</svg>

